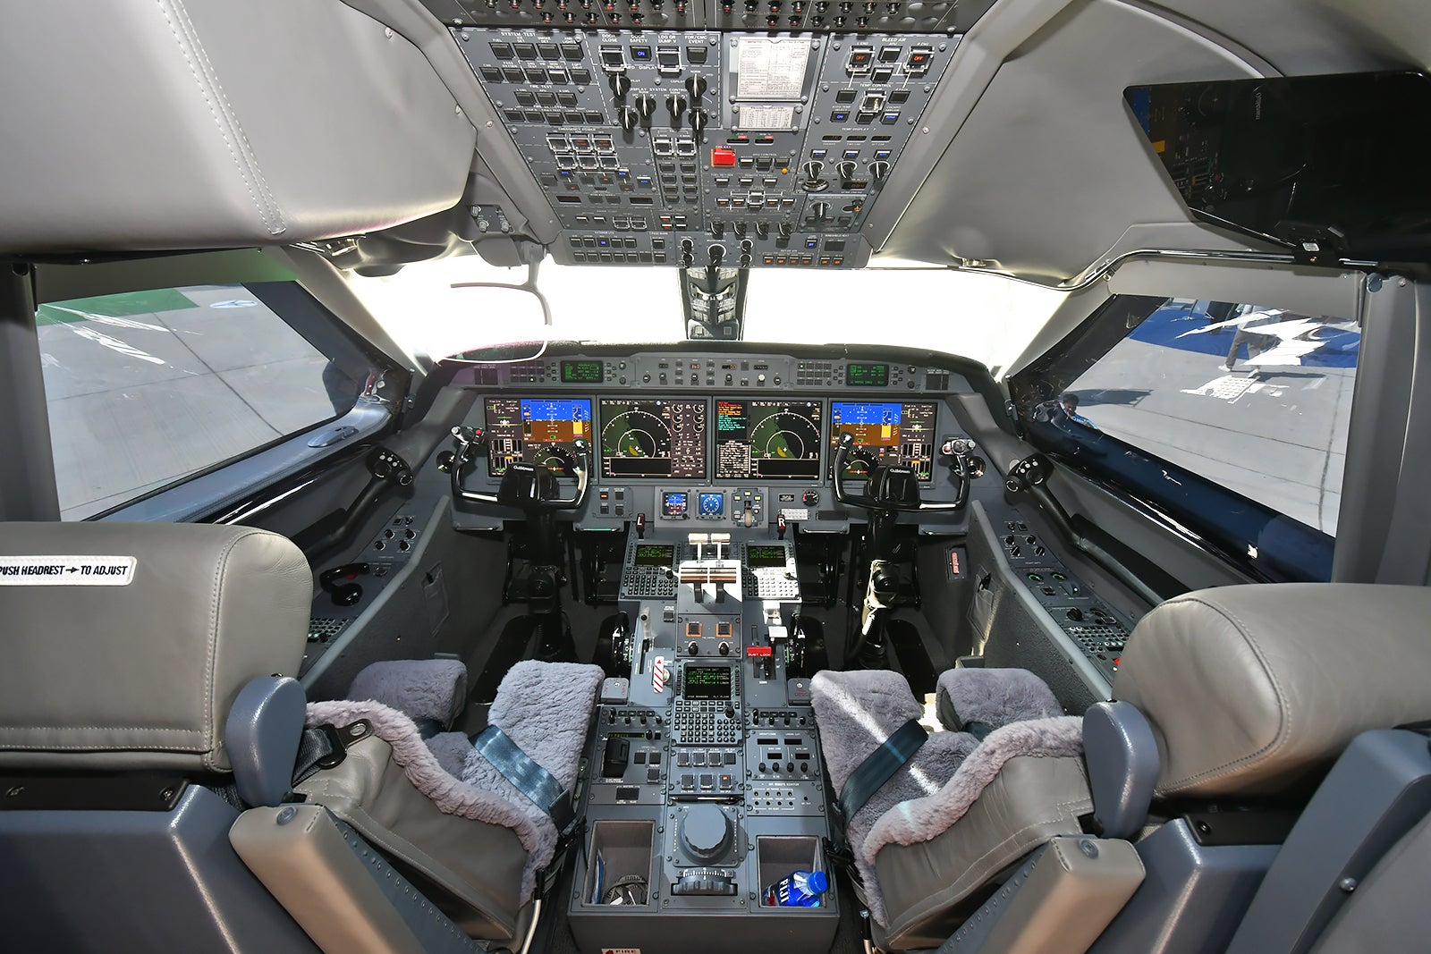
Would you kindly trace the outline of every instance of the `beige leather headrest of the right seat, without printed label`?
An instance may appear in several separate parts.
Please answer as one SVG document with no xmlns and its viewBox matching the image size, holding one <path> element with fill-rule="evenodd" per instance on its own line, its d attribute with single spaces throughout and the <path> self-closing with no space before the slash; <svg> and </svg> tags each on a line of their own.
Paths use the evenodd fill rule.
<svg viewBox="0 0 1431 954">
<path fill-rule="evenodd" d="M 1202 589 L 1143 616 L 1113 697 L 1152 725 L 1158 795 L 1276 795 L 1358 732 L 1431 718 L 1427 619 L 1424 586 Z"/>
</svg>

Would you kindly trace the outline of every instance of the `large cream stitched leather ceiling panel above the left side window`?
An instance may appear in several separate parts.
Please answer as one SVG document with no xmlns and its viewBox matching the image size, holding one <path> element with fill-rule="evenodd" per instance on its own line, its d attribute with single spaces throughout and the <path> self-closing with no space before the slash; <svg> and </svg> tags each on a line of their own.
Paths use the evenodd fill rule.
<svg viewBox="0 0 1431 954">
<path fill-rule="evenodd" d="M 338 0 L 20 4 L 0 50 L 0 253 L 369 232 L 472 160 L 424 54 Z"/>
</svg>

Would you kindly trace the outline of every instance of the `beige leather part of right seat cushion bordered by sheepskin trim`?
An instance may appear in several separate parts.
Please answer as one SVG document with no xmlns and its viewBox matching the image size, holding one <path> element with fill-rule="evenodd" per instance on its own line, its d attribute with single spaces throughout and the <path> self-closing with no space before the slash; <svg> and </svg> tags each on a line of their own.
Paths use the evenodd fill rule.
<svg viewBox="0 0 1431 954">
<path fill-rule="evenodd" d="M 1083 759 L 1009 759 L 944 832 L 876 855 L 889 915 L 887 928 L 871 924 L 876 944 L 939 947 L 960 921 L 960 901 L 1049 838 L 1078 834 L 1079 815 L 1092 808 Z"/>
</svg>

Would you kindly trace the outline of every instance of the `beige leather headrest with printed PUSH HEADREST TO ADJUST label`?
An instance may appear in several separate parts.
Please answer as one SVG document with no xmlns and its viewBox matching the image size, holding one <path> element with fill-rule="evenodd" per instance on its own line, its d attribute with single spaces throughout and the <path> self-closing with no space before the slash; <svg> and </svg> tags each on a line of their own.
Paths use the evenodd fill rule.
<svg viewBox="0 0 1431 954">
<path fill-rule="evenodd" d="M 298 672 L 311 601 L 268 531 L 0 523 L 0 767 L 228 771 L 229 708 Z"/>
</svg>

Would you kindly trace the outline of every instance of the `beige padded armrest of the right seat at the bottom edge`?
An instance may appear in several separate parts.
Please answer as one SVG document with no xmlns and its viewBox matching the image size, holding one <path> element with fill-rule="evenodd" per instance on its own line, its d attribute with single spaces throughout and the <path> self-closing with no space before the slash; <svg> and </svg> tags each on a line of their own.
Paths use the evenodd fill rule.
<svg viewBox="0 0 1431 954">
<path fill-rule="evenodd" d="M 999 924 L 979 951 L 1080 954 L 1142 882 L 1143 862 L 1129 842 L 1053 838 L 1012 900 L 1000 904 Z"/>
</svg>

